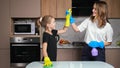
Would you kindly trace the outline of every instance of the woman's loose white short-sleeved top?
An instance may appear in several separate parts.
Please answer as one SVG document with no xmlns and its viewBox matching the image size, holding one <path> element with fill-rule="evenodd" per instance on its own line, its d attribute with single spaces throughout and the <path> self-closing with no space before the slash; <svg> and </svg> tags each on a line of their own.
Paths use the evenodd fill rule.
<svg viewBox="0 0 120 68">
<path fill-rule="evenodd" d="M 97 22 L 92 23 L 90 18 L 84 20 L 79 26 L 80 32 L 86 30 L 84 41 L 89 43 L 90 41 L 107 41 L 112 42 L 113 29 L 107 22 L 103 28 L 97 27 Z"/>
</svg>

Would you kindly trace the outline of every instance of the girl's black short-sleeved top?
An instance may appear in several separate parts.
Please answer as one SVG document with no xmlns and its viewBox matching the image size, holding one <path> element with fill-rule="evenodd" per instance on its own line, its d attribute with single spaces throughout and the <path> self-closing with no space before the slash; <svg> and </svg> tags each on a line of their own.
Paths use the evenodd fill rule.
<svg viewBox="0 0 120 68">
<path fill-rule="evenodd" d="M 47 42 L 47 53 L 51 61 L 56 61 L 57 57 L 57 30 L 52 30 L 52 35 L 44 32 L 43 43 Z"/>
</svg>

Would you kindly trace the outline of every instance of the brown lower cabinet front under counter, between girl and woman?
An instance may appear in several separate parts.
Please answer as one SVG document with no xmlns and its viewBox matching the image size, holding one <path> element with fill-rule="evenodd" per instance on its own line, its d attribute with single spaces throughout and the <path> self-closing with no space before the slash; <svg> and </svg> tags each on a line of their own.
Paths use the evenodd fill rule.
<svg viewBox="0 0 120 68">
<path fill-rule="evenodd" d="M 80 61 L 81 48 L 57 49 L 58 61 Z"/>
</svg>

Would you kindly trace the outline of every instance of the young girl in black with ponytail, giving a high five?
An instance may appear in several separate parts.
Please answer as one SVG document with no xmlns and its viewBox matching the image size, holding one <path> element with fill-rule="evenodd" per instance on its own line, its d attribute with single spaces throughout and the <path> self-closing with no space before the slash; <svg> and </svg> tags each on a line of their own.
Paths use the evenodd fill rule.
<svg viewBox="0 0 120 68">
<path fill-rule="evenodd" d="M 67 27 L 64 26 L 61 30 L 55 29 L 55 18 L 51 15 L 46 15 L 40 20 L 40 24 L 44 27 L 42 53 L 45 65 L 52 64 L 51 61 L 57 59 L 57 41 L 58 34 L 64 33 Z"/>
</svg>

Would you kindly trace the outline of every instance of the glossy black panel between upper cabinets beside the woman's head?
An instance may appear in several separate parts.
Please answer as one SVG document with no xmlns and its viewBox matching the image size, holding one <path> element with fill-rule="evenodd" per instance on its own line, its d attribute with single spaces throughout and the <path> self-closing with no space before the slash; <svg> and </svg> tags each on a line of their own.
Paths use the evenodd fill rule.
<svg viewBox="0 0 120 68">
<path fill-rule="evenodd" d="M 72 0 L 72 15 L 90 16 L 95 1 L 99 0 Z"/>
</svg>

